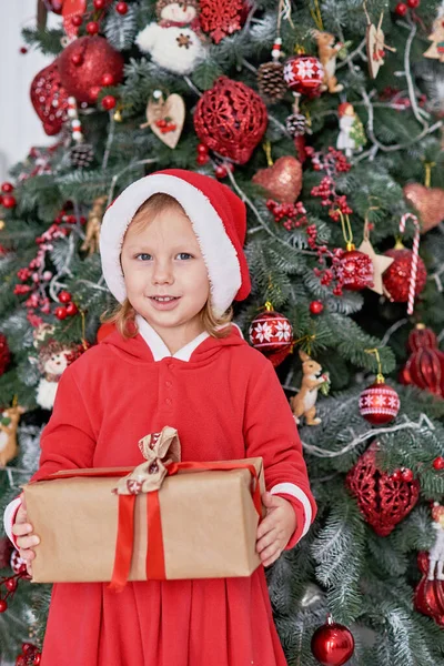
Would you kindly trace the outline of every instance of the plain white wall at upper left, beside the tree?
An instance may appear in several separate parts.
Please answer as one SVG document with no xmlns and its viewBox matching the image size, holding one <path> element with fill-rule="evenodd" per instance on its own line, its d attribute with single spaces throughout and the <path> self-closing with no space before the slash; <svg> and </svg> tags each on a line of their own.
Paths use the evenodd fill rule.
<svg viewBox="0 0 444 666">
<path fill-rule="evenodd" d="M 36 24 L 37 0 L 0 0 L 0 182 L 7 179 L 8 169 L 26 158 L 32 145 L 53 142 L 42 130 L 41 122 L 30 100 L 31 81 L 52 57 L 24 46 L 21 28 Z M 59 18 L 50 14 L 49 24 Z"/>
</svg>

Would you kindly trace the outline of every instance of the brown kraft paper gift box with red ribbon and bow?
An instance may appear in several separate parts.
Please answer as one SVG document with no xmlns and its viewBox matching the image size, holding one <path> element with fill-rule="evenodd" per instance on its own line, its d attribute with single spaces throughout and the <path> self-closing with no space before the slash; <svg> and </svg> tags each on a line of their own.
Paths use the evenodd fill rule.
<svg viewBox="0 0 444 666">
<path fill-rule="evenodd" d="M 262 458 L 180 463 L 174 428 L 147 435 L 132 468 L 70 470 L 23 486 L 40 536 L 33 583 L 250 576 Z"/>
</svg>

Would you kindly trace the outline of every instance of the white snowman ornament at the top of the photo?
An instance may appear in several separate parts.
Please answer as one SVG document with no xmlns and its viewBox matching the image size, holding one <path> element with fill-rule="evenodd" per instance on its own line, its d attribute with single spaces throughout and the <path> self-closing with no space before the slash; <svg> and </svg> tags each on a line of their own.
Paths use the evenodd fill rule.
<svg viewBox="0 0 444 666">
<path fill-rule="evenodd" d="M 139 32 L 135 42 L 153 62 L 176 74 L 189 74 L 205 54 L 196 0 L 158 0 L 159 22 Z"/>
</svg>

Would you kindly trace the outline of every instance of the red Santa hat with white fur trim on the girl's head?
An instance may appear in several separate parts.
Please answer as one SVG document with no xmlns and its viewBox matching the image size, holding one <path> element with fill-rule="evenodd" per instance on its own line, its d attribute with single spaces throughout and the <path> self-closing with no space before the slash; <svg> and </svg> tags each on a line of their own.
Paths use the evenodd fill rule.
<svg viewBox="0 0 444 666">
<path fill-rule="evenodd" d="M 243 301 L 251 291 L 243 252 L 245 205 L 226 185 L 193 171 L 168 169 L 151 173 L 129 185 L 108 208 L 100 232 L 107 284 L 122 303 L 127 297 L 120 265 L 124 234 L 142 203 L 161 192 L 173 196 L 191 221 L 209 274 L 213 312 L 221 315 L 233 300 Z"/>
</svg>

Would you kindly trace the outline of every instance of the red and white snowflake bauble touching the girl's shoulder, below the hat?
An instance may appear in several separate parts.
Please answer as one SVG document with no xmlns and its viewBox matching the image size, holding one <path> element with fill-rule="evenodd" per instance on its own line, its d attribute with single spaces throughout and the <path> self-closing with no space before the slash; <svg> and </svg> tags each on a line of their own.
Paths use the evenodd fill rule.
<svg viewBox="0 0 444 666">
<path fill-rule="evenodd" d="M 270 359 L 274 366 L 290 354 L 293 329 L 286 316 L 266 306 L 250 324 L 249 336 L 254 349 Z"/>
</svg>

